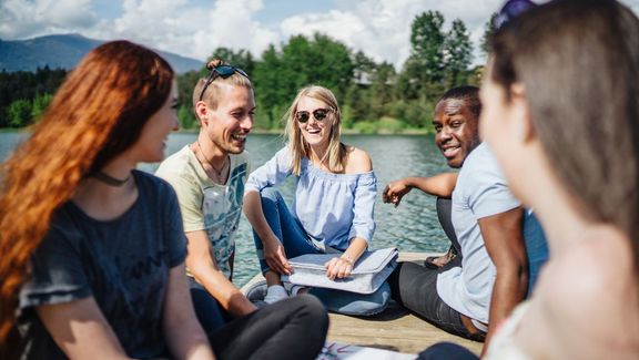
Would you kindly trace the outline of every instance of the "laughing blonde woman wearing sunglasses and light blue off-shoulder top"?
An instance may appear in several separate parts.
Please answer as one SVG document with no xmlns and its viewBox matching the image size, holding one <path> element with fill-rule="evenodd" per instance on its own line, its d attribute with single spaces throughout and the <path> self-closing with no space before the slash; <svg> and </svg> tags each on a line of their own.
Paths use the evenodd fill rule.
<svg viewBox="0 0 639 360">
<path fill-rule="evenodd" d="M 389 299 L 384 284 L 361 295 L 324 288 L 291 294 L 281 275 L 290 275 L 290 257 L 341 253 L 325 264 L 329 279 L 351 275 L 375 232 L 373 219 L 377 179 L 368 154 L 341 142 L 342 114 L 335 95 L 322 86 L 302 89 L 286 115 L 287 146 L 248 177 L 244 213 L 253 226 L 265 301 L 275 302 L 308 291 L 334 312 L 378 313 Z M 288 208 L 275 186 L 295 176 L 295 204 Z"/>
</svg>

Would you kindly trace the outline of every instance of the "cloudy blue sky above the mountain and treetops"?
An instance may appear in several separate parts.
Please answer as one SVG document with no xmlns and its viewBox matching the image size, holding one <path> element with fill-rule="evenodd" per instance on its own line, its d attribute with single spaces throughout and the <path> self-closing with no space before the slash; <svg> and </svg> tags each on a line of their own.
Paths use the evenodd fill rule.
<svg viewBox="0 0 639 360">
<path fill-rule="evenodd" d="M 462 19 L 477 45 L 505 0 L 0 0 L 0 39 L 80 33 L 128 39 L 204 61 L 215 48 L 247 49 L 323 32 L 397 69 L 409 54 L 415 16 L 437 10 L 445 28 Z M 537 2 L 545 2 L 539 0 Z M 639 0 L 622 0 L 639 12 Z M 475 51 L 475 63 L 483 63 Z"/>
</svg>

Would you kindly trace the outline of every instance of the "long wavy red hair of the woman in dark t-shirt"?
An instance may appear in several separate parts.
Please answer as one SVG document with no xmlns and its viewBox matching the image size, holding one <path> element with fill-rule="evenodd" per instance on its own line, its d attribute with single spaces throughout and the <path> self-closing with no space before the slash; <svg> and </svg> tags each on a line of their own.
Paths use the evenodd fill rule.
<svg viewBox="0 0 639 360">
<path fill-rule="evenodd" d="M 166 101 L 171 65 L 128 41 L 108 42 L 73 70 L 34 127 L 0 167 L 0 348 L 18 294 L 53 212 L 90 173 L 129 148 Z"/>
</svg>

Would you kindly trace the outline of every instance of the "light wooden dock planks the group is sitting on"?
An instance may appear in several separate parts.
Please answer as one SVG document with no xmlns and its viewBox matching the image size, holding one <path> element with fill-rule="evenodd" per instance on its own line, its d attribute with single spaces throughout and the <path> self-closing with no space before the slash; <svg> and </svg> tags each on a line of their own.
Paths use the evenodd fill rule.
<svg viewBox="0 0 639 360">
<path fill-rule="evenodd" d="M 426 257 L 437 254 L 400 253 L 400 261 L 423 261 Z M 262 280 L 256 275 L 242 291 Z M 384 312 L 366 318 L 331 313 L 328 340 L 363 347 L 393 350 L 404 353 L 418 353 L 427 347 L 440 342 L 455 342 L 479 354 L 483 343 L 466 340 L 449 335 L 425 320 L 409 313 L 403 307 L 392 301 Z"/>
</svg>

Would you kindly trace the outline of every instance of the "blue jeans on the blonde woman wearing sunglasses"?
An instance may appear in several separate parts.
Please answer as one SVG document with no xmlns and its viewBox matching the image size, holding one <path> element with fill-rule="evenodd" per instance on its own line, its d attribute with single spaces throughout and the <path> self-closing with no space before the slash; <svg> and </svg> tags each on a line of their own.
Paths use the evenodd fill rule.
<svg viewBox="0 0 639 360">
<path fill-rule="evenodd" d="M 266 187 L 260 193 L 262 198 L 262 210 L 266 222 L 275 233 L 275 236 L 282 241 L 284 251 L 288 258 L 305 254 L 324 254 L 324 250 L 317 247 L 300 220 L 291 214 L 282 194 L 273 187 Z M 264 247 L 257 233 L 253 232 L 255 248 L 262 272 L 270 270 L 264 260 Z M 342 249 L 343 250 L 343 249 Z M 377 291 L 373 294 L 357 294 L 327 288 L 312 288 L 308 294 L 317 297 L 328 311 L 352 315 L 352 316 L 371 316 L 382 312 L 390 299 L 390 287 L 384 282 Z"/>
</svg>

